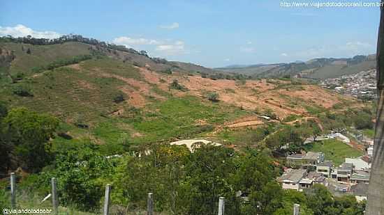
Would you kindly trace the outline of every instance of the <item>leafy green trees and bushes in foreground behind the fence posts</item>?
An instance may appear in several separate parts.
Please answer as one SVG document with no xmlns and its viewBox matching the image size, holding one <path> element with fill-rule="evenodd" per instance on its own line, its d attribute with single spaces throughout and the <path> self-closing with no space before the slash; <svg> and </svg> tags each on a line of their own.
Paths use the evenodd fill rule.
<svg viewBox="0 0 384 215">
<path fill-rule="evenodd" d="M 19 192 L 41 199 L 57 177 L 60 205 L 100 214 L 105 184 L 112 184 L 111 204 L 124 212 L 145 212 L 147 193 L 154 193 L 154 209 L 163 214 L 217 214 L 219 196 L 226 197 L 228 214 L 290 214 L 299 203 L 302 214 L 362 214 L 364 202 L 353 196 L 333 197 L 316 184 L 307 192 L 283 191 L 274 181 L 281 169 L 266 152 L 203 145 L 189 152 L 184 146 L 151 145 L 138 149 L 142 157 L 105 158 L 95 145 L 77 145 L 61 151 L 50 168 L 29 175 Z M 0 186 L 0 202 L 9 196 Z M 236 191 L 249 202 L 236 197 Z M 127 195 L 129 193 L 129 195 Z M 29 204 L 25 204 L 29 205 Z M 47 208 L 50 208 L 47 205 Z M 64 211 L 64 208 L 61 208 Z M 66 209 L 68 211 L 68 209 Z M 80 214 L 80 212 L 78 212 Z"/>
</svg>

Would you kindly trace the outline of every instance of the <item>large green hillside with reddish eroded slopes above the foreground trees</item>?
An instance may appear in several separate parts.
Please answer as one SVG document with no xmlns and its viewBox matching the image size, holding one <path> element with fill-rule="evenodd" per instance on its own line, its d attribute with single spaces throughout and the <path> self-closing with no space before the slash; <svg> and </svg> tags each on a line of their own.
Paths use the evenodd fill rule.
<svg viewBox="0 0 384 215">
<path fill-rule="evenodd" d="M 0 99 L 11 107 L 26 106 L 51 113 L 64 123 L 64 133 L 76 140 L 117 145 L 108 147 L 112 151 L 127 141 L 217 138 L 228 129 L 254 129 L 268 123 L 310 118 L 320 124 L 320 113 L 336 107 L 364 106 L 352 97 L 342 97 L 299 79 L 208 78 L 202 71 L 209 69 L 198 65 L 158 62 L 91 45 L 77 47 L 74 42 L 52 56 L 60 46 L 4 46 L 8 50 L 20 49 L 13 51 L 15 59 L 4 69 L 8 76 L 26 72 L 8 82 L 3 75 L 6 83 L 2 84 Z M 30 54 L 22 51 L 27 47 Z M 89 57 L 76 58 L 77 53 Z M 62 60 L 71 56 L 76 61 Z M 54 66 L 37 72 L 31 69 L 41 65 Z M 218 95 L 218 101 L 210 101 L 209 93 Z M 272 120 L 267 122 L 260 116 Z M 58 137 L 55 141 L 71 140 Z"/>
</svg>

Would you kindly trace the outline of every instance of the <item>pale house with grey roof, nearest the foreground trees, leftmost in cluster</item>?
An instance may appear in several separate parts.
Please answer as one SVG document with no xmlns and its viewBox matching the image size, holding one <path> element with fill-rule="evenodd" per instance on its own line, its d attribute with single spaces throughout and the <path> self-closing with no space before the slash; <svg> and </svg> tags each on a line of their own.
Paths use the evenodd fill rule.
<svg viewBox="0 0 384 215">
<path fill-rule="evenodd" d="M 300 191 L 301 185 L 300 182 L 304 177 L 307 176 L 307 170 L 304 170 L 302 168 L 300 169 L 292 169 L 288 168 L 283 175 L 277 178 L 277 182 L 281 184 L 281 187 L 283 189 L 293 189 L 296 191 Z M 303 182 L 302 184 L 305 184 L 306 182 Z M 310 182 L 309 184 L 312 184 Z"/>
</svg>

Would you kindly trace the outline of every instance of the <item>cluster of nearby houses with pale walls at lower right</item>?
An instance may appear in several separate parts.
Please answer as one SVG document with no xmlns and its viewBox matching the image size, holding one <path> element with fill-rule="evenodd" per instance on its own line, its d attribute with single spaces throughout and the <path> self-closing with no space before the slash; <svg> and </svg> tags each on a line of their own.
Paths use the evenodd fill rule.
<svg viewBox="0 0 384 215">
<path fill-rule="evenodd" d="M 353 135 L 353 134 L 349 134 Z M 325 160 L 323 152 L 305 152 L 290 154 L 286 157 L 287 168 L 277 178 L 282 189 L 304 191 L 314 184 L 323 184 L 335 196 L 353 195 L 357 201 L 367 200 L 371 159 L 374 152 L 374 141 L 363 135 L 353 136 L 365 148 L 361 157 L 345 158 L 336 166 L 332 161 Z M 313 141 L 316 139 L 316 141 Z M 321 144 L 321 141 L 337 139 L 341 144 L 356 147 L 356 143 L 348 136 L 335 132 L 317 138 L 307 138 L 304 144 Z M 362 146 L 360 145 L 360 146 Z"/>
</svg>

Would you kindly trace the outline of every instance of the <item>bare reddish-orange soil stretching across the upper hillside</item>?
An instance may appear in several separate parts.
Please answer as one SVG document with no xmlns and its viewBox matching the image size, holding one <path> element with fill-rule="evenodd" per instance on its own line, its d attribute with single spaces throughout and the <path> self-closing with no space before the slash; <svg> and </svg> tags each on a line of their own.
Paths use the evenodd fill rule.
<svg viewBox="0 0 384 215">
<path fill-rule="evenodd" d="M 221 102 L 241 106 L 248 110 L 271 109 L 279 118 L 285 118 L 290 114 L 309 116 L 303 106 L 288 106 L 289 98 L 323 106 L 326 109 L 340 102 L 338 95 L 318 86 L 303 86 L 300 90 L 274 90 L 278 82 L 276 84 L 267 83 L 265 79 L 247 80 L 245 84 L 239 84 L 234 80 L 212 80 L 200 76 L 184 76 L 178 73 L 165 75 L 152 72 L 145 67 L 137 68 L 146 81 L 156 84 L 161 90 L 168 91 L 169 83 L 177 79 L 180 84 L 189 89 L 188 94 L 202 97 L 207 91 L 216 91 L 219 93 Z M 286 82 L 288 81 L 279 81 L 279 83 Z M 179 90 L 171 90 L 171 92 L 176 96 L 186 95 Z M 281 95 L 288 96 L 288 99 L 281 97 Z"/>
</svg>

